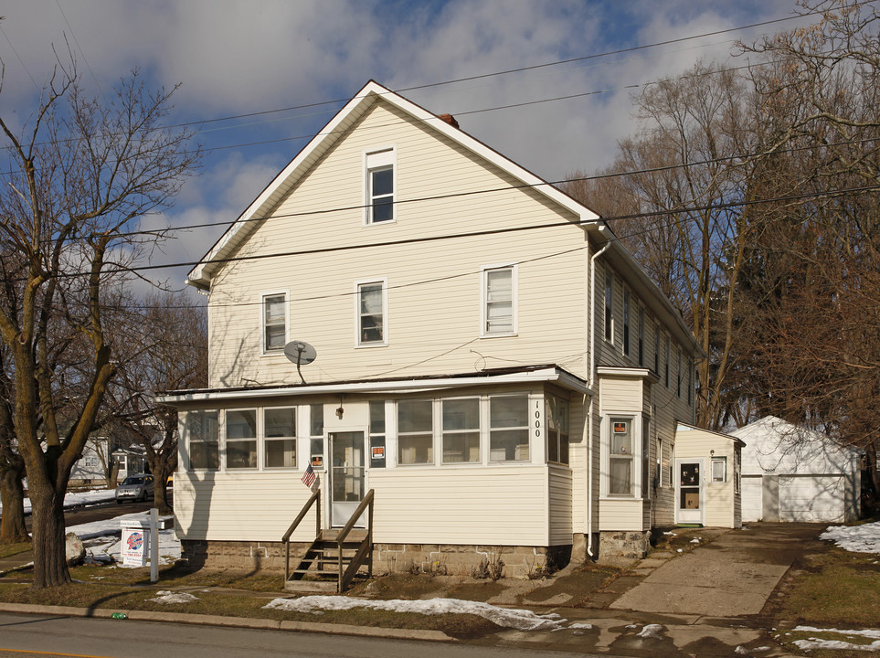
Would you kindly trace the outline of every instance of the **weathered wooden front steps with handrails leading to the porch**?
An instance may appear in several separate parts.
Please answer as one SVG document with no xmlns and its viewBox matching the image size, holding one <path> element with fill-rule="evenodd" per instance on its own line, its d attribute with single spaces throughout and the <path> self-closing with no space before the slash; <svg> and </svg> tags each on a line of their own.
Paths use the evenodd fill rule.
<svg viewBox="0 0 880 658">
<path fill-rule="evenodd" d="M 291 569 L 291 535 L 313 504 L 317 504 L 314 541 Z M 366 529 L 355 528 L 355 522 L 365 511 Z M 366 494 L 344 527 L 330 530 L 321 529 L 321 493 L 313 493 L 281 541 L 287 545 L 285 590 L 344 592 L 355 577 L 373 575 L 373 490 Z M 361 570 L 365 567 L 366 574 Z"/>
</svg>

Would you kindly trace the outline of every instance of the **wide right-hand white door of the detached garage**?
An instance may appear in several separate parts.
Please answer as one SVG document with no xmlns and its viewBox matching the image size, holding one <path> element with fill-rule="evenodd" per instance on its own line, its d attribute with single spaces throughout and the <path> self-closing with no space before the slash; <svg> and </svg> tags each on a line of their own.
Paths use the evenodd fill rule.
<svg viewBox="0 0 880 658">
<path fill-rule="evenodd" d="M 779 521 L 842 523 L 844 500 L 841 475 L 779 476 Z"/>
</svg>

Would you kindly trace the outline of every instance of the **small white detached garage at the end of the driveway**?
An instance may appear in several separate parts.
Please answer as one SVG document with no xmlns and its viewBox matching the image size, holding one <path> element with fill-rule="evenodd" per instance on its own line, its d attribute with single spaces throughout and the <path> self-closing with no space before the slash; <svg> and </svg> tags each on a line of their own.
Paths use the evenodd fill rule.
<svg viewBox="0 0 880 658">
<path fill-rule="evenodd" d="M 731 432 L 743 449 L 743 521 L 853 521 L 861 457 L 821 432 L 774 416 Z"/>
</svg>

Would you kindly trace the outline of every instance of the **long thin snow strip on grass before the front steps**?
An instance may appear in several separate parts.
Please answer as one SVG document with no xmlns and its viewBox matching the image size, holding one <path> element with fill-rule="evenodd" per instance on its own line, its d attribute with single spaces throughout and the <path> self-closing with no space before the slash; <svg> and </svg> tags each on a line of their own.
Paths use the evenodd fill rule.
<svg viewBox="0 0 880 658">
<path fill-rule="evenodd" d="M 555 613 L 539 615 L 531 610 L 512 610 L 497 608 L 480 601 L 458 599 L 429 600 L 357 600 L 342 596 L 308 596 L 302 599 L 275 599 L 265 608 L 311 612 L 322 614 L 323 610 L 351 610 L 369 608 L 371 610 L 390 610 L 392 612 L 418 612 L 423 615 L 436 614 L 475 614 L 493 621 L 499 626 L 518 631 L 553 631 L 569 628 L 567 620 Z M 589 624 L 578 624 L 578 629 L 592 628 Z"/>
</svg>

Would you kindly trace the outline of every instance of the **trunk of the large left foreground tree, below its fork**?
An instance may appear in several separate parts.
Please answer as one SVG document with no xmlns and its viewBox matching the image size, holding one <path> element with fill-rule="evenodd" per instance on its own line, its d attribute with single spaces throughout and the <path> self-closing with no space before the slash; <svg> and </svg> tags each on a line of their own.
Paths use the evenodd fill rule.
<svg viewBox="0 0 880 658">
<path fill-rule="evenodd" d="M 34 543 L 33 589 L 60 587 L 71 582 L 65 554 L 64 492 L 30 491 L 31 531 Z"/>
</svg>

